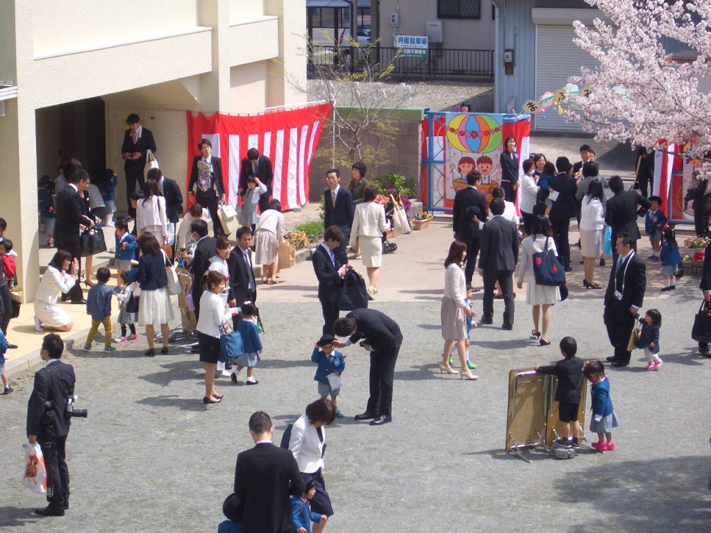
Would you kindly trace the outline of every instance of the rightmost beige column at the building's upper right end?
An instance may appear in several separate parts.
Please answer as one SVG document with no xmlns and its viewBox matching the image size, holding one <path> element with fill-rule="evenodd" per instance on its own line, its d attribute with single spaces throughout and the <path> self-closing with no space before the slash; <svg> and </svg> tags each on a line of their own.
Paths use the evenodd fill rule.
<svg viewBox="0 0 711 533">
<path fill-rule="evenodd" d="M 292 87 L 284 73 L 301 73 L 303 79 L 297 84 L 306 87 L 306 1 L 264 0 L 264 14 L 279 17 L 279 58 L 269 65 L 267 106 L 306 102 L 306 95 Z M 302 29 L 294 32 L 292 28 Z"/>
</svg>

